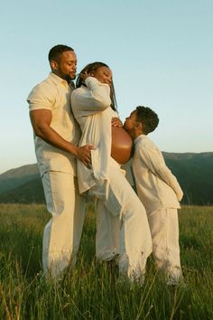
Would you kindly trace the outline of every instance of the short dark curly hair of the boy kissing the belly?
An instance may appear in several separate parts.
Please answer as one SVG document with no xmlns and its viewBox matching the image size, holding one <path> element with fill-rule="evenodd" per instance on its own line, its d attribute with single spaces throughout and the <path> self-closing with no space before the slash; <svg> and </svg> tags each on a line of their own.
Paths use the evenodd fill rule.
<svg viewBox="0 0 213 320">
<path fill-rule="evenodd" d="M 136 107 L 136 117 L 137 121 L 143 125 L 144 135 L 148 135 L 150 132 L 153 132 L 155 127 L 158 127 L 158 115 L 151 108 L 144 106 Z"/>
</svg>

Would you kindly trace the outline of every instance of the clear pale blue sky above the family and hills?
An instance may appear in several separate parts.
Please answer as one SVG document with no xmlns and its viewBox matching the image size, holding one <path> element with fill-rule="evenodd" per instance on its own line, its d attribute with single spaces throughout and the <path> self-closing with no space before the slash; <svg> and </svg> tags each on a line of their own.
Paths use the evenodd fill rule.
<svg viewBox="0 0 213 320">
<path fill-rule="evenodd" d="M 212 0 L 19 0 L 0 5 L 0 174 L 35 163 L 26 97 L 67 44 L 78 71 L 104 61 L 122 120 L 138 105 L 159 115 L 162 151 L 213 151 Z"/>
</svg>

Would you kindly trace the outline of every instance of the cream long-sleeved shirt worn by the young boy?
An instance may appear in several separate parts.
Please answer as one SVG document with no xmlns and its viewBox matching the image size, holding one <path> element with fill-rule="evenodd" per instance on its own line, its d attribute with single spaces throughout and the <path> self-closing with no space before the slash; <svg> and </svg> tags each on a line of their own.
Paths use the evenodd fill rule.
<svg viewBox="0 0 213 320">
<path fill-rule="evenodd" d="M 162 152 L 148 136 L 134 140 L 134 178 L 137 193 L 146 212 L 181 208 L 181 186 L 164 162 Z"/>
</svg>

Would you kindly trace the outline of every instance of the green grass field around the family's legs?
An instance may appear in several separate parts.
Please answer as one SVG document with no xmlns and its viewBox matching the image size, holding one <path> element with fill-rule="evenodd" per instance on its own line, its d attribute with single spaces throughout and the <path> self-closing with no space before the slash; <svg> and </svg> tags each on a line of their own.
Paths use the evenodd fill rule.
<svg viewBox="0 0 213 320">
<path fill-rule="evenodd" d="M 91 204 L 77 267 L 58 284 L 42 278 L 45 207 L 0 204 L 0 319 L 213 319 L 213 207 L 183 207 L 179 217 L 186 287 L 167 287 L 151 258 L 142 288 L 99 265 Z"/>
</svg>

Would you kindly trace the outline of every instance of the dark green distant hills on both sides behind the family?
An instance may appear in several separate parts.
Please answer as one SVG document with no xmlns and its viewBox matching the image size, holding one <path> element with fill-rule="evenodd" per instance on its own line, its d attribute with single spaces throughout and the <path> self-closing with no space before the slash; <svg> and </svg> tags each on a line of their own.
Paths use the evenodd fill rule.
<svg viewBox="0 0 213 320">
<path fill-rule="evenodd" d="M 213 204 L 213 152 L 162 154 L 181 184 L 183 203 Z M 44 202 L 37 165 L 23 165 L 0 174 L 0 202 Z"/>
</svg>

